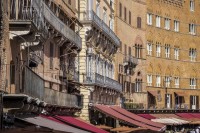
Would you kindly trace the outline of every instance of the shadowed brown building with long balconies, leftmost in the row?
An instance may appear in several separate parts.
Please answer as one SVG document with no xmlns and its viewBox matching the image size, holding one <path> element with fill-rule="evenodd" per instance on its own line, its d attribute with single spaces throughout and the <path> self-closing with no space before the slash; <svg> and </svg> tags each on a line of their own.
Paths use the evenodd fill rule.
<svg viewBox="0 0 200 133">
<path fill-rule="evenodd" d="M 80 112 L 77 54 L 82 42 L 77 33 L 80 22 L 75 14 L 76 1 L 5 3 L 4 64 L 1 58 L 6 69 L 4 108 L 38 113 L 45 109 L 69 115 Z"/>
</svg>

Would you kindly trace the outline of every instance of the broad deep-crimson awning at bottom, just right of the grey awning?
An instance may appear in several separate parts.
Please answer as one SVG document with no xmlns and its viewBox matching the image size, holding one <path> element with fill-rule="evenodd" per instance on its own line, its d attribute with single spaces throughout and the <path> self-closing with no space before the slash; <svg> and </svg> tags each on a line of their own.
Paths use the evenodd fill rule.
<svg viewBox="0 0 200 133">
<path fill-rule="evenodd" d="M 76 118 L 70 117 L 70 116 L 55 116 L 58 120 L 61 120 L 62 122 L 66 122 L 67 124 L 73 125 L 75 127 L 81 128 L 83 130 L 87 130 L 89 132 L 95 132 L 95 133 L 108 133 L 105 130 L 99 129 L 89 123 L 83 122 L 81 120 L 78 120 Z"/>
</svg>

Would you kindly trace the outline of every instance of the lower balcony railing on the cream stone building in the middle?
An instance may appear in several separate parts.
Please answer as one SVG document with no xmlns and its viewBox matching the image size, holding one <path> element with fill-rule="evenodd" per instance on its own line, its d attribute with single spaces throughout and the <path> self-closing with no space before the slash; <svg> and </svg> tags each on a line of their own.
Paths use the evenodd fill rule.
<svg viewBox="0 0 200 133">
<path fill-rule="evenodd" d="M 119 92 L 122 91 L 122 85 L 118 81 L 100 75 L 98 73 L 87 73 L 84 82 L 87 84 L 97 84 L 102 87 L 111 88 Z"/>
</svg>

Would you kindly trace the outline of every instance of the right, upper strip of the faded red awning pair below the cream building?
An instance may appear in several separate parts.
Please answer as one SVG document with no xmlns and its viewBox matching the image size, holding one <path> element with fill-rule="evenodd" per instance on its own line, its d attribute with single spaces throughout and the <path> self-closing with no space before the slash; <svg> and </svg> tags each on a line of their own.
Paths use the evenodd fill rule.
<svg viewBox="0 0 200 133">
<path fill-rule="evenodd" d="M 160 123 L 156 123 L 156 122 L 152 122 L 151 120 L 148 120 L 148 119 L 145 119 L 141 116 L 138 116 L 134 113 L 131 113 L 123 108 L 120 108 L 119 106 L 111 106 L 112 109 L 114 109 L 115 111 L 133 119 L 133 120 L 136 120 L 138 122 L 142 122 L 144 124 L 147 124 L 147 125 L 150 125 L 150 126 L 154 126 L 154 127 L 157 127 L 157 128 L 165 128 L 165 125 L 163 124 L 160 124 Z"/>
</svg>

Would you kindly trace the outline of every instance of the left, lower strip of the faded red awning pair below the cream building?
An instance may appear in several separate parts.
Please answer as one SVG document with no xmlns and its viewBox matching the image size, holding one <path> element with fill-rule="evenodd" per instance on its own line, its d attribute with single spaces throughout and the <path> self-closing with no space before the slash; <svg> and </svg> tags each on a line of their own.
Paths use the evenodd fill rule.
<svg viewBox="0 0 200 133">
<path fill-rule="evenodd" d="M 134 125 L 134 126 L 136 125 L 136 126 L 144 127 L 144 128 L 154 130 L 154 131 L 160 131 L 161 130 L 161 128 L 153 127 L 153 126 L 144 124 L 142 122 L 135 121 L 135 120 L 133 120 L 133 119 L 121 114 L 121 113 L 118 113 L 117 111 L 115 111 L 114 109 L 112 109 L 112 108 L 110 108 L 109 106 L 106 106 L 106 105 L 95 105 L 94 108 L 96 110 L 106 114 L 106 115 L 109 115 L 112 118 L 118 119 L 120 121 L 127 122 L 129 124 Z"/>
</svg>

